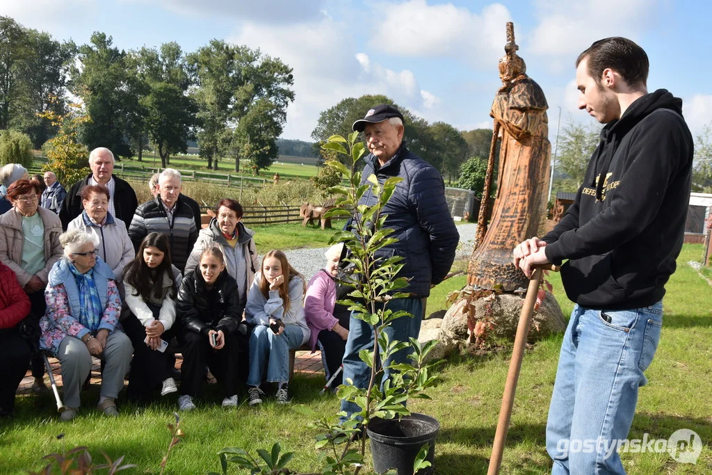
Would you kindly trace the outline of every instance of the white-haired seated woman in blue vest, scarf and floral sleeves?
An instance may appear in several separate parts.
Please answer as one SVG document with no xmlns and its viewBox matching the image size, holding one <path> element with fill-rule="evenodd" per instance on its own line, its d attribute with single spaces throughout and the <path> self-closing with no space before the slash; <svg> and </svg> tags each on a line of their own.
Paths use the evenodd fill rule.
<svg viewBox="0 0 712 475">
<path fill-rule="evenodd" d="M 124 386 L 133 347 L 119 326 L 121 299 L 114 273 L 98 256 L 98 239 L 80 229 L 59 237 L 64 257 L 49 273 L 47 312 L 40 320 L 41 346 L 62 365 L 64 404 L 61 419 L 76 417 L 79 394 L 92 366 L 91 357 L 106 365 L 98 408 L 118 415 L 114 400 Z"/>
</svg>

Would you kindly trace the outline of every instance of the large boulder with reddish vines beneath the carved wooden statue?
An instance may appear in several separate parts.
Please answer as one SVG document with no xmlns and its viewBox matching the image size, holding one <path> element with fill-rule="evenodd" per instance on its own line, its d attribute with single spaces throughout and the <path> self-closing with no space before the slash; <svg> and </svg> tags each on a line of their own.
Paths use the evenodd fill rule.
<svg viewBox="0 0 712 475">
<path fill-rule="evenodd" d="M 493 301 L 481 298 L 475 303 L 476 318 L 486 315 L 488 306 L 491 306 L 491 320 L 494 327 L 489 334 L 514 340 L 523 303 L 524 299 L 513 293 L 502 293 Z M 443 328 L 446 328 L 445 323 Z M 533 315 L 528 340 L 538 340 L 551 333 L 563 332 L 565 329 L 566 321 L 561 307 L 554 296 L 547 292 L 539 310 Z"/>
</svg>

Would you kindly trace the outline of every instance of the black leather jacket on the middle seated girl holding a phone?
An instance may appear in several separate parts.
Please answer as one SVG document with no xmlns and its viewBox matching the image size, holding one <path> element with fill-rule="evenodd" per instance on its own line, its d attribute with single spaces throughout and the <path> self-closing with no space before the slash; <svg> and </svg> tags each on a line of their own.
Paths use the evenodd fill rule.
<svg viewBox="0 0 712 475">
<path fill-rule="evenodd" d="M 218 276 L 208 290 L 198 269 L 183 278 L 176 304 L 177 318 L 184 332 L 207 335 L 208 330 L 222 330 L 225 335 L 236 333 L 242 319 L 237 283 L 226 271 Z"/>
</svg>

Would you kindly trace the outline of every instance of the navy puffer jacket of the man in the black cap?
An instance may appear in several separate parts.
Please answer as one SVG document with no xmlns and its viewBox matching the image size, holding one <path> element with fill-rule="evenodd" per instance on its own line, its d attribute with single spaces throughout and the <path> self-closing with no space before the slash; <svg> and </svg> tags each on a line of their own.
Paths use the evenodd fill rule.
<svg viewBox="0 0 712 475">
<path fill-rule="evenodd" d="M 402 177 L 382 214 L 384 227 L 394 229 L 390 237 L 398 241 L 380 249 L 377 258 L 404 257 L 399 277 L 410 279 L 402 292 L 415 298 L 430 295 L 431 284 L 440 283 L 450 271 L 460 235 L 445 200 L 445 184 L 440 173 L 403 144 L 383 167 L 374 155 L 366 157 L 361 183 L 376 174 L 379 184 L 389 177 Z M 359 204 L 372 206 L 377 197 L 369 189 Z"/>
</svg>

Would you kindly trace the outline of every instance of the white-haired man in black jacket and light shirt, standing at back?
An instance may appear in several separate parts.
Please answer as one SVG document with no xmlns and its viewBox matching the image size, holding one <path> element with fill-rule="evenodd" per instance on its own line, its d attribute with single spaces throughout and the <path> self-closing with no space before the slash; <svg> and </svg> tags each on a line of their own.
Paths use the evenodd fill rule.
<svg viewBox="0 0 712 475">
<path fill-rule="evenodd" d="M 100 184 L 109 189 L 109 212 L 128 226 L 136 212 L 138 199 L 128 182 L 113 175 L 114 154 L 105 147 L 95 148 L 89 154 L 89 167 L 91 174 L 73 184 L 64 199 L 59 212 L 62 228 L 66 231 L 70 221 L 83 212 L 82 190 L 90 184 Z"/>
</svg>

